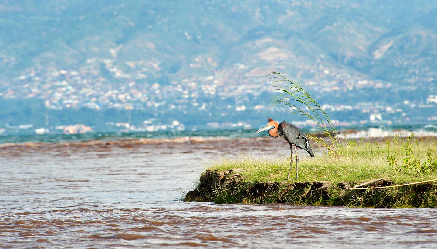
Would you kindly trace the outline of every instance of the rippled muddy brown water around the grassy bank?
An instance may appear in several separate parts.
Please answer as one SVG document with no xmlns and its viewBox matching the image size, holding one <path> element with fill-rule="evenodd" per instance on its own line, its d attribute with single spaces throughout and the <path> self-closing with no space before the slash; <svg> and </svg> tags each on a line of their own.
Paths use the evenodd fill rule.
<svg viewBox="0 0 437 249">
<path fill-rule="evenodd" d="M 437 209 L 184 203 L 205 162 L 269 138 L 0 148 L 0 248 L 437 248 Z"/>
</svg>

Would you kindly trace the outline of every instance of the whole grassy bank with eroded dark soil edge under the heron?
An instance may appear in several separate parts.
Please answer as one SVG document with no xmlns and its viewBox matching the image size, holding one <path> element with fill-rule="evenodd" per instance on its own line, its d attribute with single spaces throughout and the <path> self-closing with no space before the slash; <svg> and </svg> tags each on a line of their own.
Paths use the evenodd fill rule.
<svg viewBox="0 0 437 249">
<path fill-rule="evenodd" d="M 437 178 L 437 140 L 386 138 L 340 143 L 340 153 L 301 157 L 299 178 L 284 181 L 290 158 L 241 156 L 212 162 L 186 201 L 216 203 L 291 202 L 355 207 L 437 207 L 437 181 L 393 188 Z M 303 154 L 304 151 L 300 153 Z M 378 180 L 371 181 L 377 178 Z"/>
</svg>

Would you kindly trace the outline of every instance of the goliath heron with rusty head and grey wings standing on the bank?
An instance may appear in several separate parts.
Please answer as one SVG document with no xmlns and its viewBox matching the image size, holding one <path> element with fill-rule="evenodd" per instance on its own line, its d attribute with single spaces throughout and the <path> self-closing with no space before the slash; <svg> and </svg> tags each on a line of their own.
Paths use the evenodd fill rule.
<svg viewBox="0 0 437 249">
<path fill-rule="evenodd" d="M 288 169 L 287 180 L 290 178 L 291 165 L 293 165 L 293 146 L 295 146 L 296 179 L 297 179 L 299 176 L 298 175 L 299 158 L 298 158 L 298 152 L 296 151 L 296 147 L 304 149 L 306 152 L 309 153 L 311 157 L 314 157 L 314 152 L 312 151 L 308 139 L 306 138 L 305 134 L 301 130 L 299 130 L 299 128 L 297 128 L 294 125 L 291 125 L 285 120 L 282 121 L 279 125 L 277 124 L 276 121 L 273 120 L 273 118 L 267 118 L 267 120 L 268 120 L 267 125 L 265 125 L 263 128 L 260 128 L 257 132 L 253 134 L 257 134 L 258 132 L 268 130 L 269 135 L 272 138 L 283 137 L 288 142 L 291 151 L 291 162 L 290 162 L 290 168 Z"/>
</svg>

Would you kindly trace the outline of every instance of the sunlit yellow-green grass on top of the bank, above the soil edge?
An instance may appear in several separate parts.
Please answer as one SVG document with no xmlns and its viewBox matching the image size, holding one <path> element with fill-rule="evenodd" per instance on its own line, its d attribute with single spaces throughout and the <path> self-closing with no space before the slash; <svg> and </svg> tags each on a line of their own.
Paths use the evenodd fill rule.
<svg viewBox="0 0 437 249">
<path fill-rule="evenodd" d="M 299 157 L 299 178 L 288 182 L 358 183 L 373 178 L 389 178 L 395 183 L 404 183 L 437 178 L 435 138 L 416 140 L 411 136 L 407 139 L 387 138 L 384 141 L 349 141 L 340 149 L 345 151 L 344 156 L 322 153 L 314 158 Z M 305 155 L 305 151 L 301 153 Z M 289 156 L 240 156 L 213 161 L 208 169 L 240 169 L 239 174 L 246 182 L 265 182 L 286 179 L 289 165 Z"/>
</svg>

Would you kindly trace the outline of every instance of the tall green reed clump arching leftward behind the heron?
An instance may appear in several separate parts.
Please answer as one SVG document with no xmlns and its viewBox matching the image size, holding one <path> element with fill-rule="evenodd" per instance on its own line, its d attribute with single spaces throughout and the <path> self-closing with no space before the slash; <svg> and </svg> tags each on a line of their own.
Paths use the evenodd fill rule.
<svg viewBox="0 0 437 249">
<path fill-rule="evenodd" d="M 323 108 L 312 98 L 312 96 L 302 87 L 301 84 L 293 82 L 286 78 L 283 74 L 278 72 L 271 72 L 266 76 L 272 76 L 269 80 L 273 80 L 271 83 L 285 82 L 285 86 L 278 87 L 276 90 L 282 93 L 271 99 L 271 104 L 282 104 L 286 108 L 290 108 L 290 111 L 315 121 L 322 129 L 330 143 L 328 144 L 323 138 L 316 137 L 315 135 L 309 135 L 308 137 L 315 141 L 318 147 L 326 147 L 330 155 L 333 156 L 347 156 L 348 149 L 343 150 L 340 145 L 340 139 L 336 128 L 329 118 L 329 115 Z M 346 141 L 347 146 L 347 141 Z"/>
</svg>

